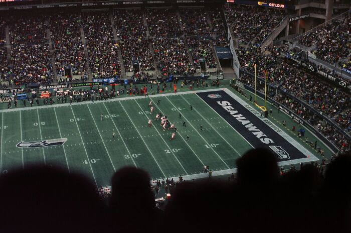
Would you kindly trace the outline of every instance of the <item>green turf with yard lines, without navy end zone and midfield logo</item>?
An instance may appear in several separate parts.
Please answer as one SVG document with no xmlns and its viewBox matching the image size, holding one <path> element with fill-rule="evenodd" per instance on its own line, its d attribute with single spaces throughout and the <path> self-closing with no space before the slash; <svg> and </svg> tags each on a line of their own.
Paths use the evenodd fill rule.
<svg viewBox="0 0 351 233">
<path fill-rule="evenodd" d="M 239 95 L 234 89 L 232 91 Z M 152 179 L 199 174 L 204 165 L 210 165 L 214 171 L 232 169 L 236 167 L 236 159 L 252 148 L 194 93 L 151 99 L 153 114 L 149 113 L 147 106 L 149 98 L 87 101 L 3 111 L 0 114 L 0 172 L 4 175 L 31 165 L 54 165 L 70 172 L 83 173 L 100 186 L 110 185 L 112 174 L 124 166 L 143 168 Z M 156 104 L 157 99 L 160 99 L 159 105 Z M 194 106 L 193 110 L 190 110 L 190 105 Z M 167 115 L 178 128 L 174 140 L 169 140 L 173 131 L 163 131 L 159 121 L 154 120 L 156 112 Z M 180 112 L 182 118 L 179 117 Z M 104 115 L 102 121 L 101 113 Z M 282 112 L 275 117 L 276 122 L 273 123 L 277 125 L 281 119 L 289 119 Z M 148 119 L 152 120 L 152 127 L 147 126 Z M 183 121 L 186 127 L 182 126 Z M 288 129 L 283 130 L 291 134 Z M 116 134 L 115 141 L 113 132 Z M 189 141 L 186 140 L 187 135 Z M 312 135 L 308 137 L 313 138 Z M 64 146 L 16 147 L 21 141 L 58 138 L 67 138 Z M 317 155 L 316 152 L 313 154 Z"/>
</svg>

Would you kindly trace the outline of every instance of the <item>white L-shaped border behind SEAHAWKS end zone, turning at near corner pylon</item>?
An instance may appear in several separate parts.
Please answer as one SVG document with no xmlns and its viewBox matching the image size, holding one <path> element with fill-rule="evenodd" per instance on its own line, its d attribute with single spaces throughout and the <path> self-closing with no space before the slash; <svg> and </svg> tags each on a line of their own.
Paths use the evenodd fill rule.
<svg viewBox="0 0 351 233">
<path fill-rule="evenodd" d="M 227 88 L 224 89 L 224 91 L 229 94 L 232 98 L 234 98 L 236 101 L 238 101 L 243 107 L 248 109 L 250 112 L 256 115 L 258 119 L 260 119 L 264 124 L 266 124 L 268 127 L 273 129 L 277 134 L 279 134 L 281 137 L 283 137 L 286 141 L 288 141 L 292 146 L 294 146 L 296 149 L 301 151 L 307 158 L 302 158 L 302 159 L 294 159 L 294 160 L 288 160 L 288 161 L 282 161 L 278 162 L 279 165 L 290 165 L 290 164 L 296 164 L 300 162 L 312 162 L 312 161 L 319 161 L 317 157 L 315 157 L 311 152 L 309 152 L 306 148 L 304 148 L 301 144 L 296 142 L 293 138 L 291 138 L 288 134 L 286 134 L 283 130 L 281 130 L 279 127 L 277 127 L 275 124 L 273 124 L 268 118 L 261 117 L 261 113 L 258 112 L 254 107 L 251 107 L 249 104 L 247 104 L 244 100 L 242 100 L 239 96 L 228 90 Z M 251 109 L 249 109 L 247 106 L 249 106 Z M 267 122 L 270 123 L 267 124 Z M 277 132 L 274 128 L 278 128 L 279 132 Z"/>
</svg>

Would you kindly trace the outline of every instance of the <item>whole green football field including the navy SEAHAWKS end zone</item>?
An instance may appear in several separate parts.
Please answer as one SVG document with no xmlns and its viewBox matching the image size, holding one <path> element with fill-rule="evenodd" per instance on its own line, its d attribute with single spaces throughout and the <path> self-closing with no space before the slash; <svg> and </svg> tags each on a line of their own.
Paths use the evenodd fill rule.
<svg viewBox="0 0 351 233">
<path fill-rule="evenodd" d="M 174 130 L 154 120 L 158 112 L 177 127 L 173 140 Z M 0 118 L 2 175 L 59 166 L 109 186 L 124 166 L 142 168 L 151 179 L 205 177 L 204 165 L 214 175 L 230 174 L 257 147 L 272 149 L 282 165 L 318 160 L 227 88 L 1 110 Z"/>
</svg>

